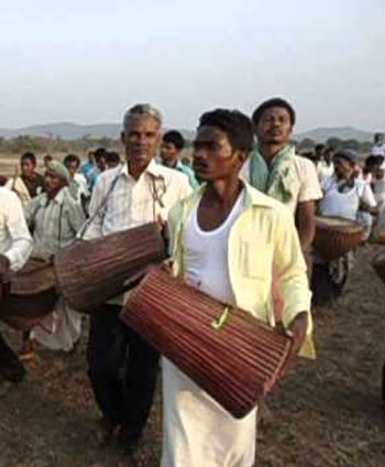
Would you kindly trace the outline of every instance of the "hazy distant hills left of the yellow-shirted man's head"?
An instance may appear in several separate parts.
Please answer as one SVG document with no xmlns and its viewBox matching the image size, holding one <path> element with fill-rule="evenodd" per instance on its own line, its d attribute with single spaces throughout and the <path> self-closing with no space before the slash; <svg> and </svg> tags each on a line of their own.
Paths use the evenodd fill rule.
<svg viewBox="0 0 385 467">
<path fill-rule="evenodd" d="M 187 140 L 193 139 L 194 131 L 185 129 L 182 129 L 180 131 Z M 63 140 L 77 140 L 86 135 L 92 139 L 118 139 L 120 132 L 121 124 L 119 123 L 77 124 L 70 122 L 61 122 L 48 124 L 34 124 L 31 127 L 16 129 L 0 128 L 0 137 L 7 139 L 16 138 L 21 134 L 30 137 L 62 138 Z"/>
</svg>

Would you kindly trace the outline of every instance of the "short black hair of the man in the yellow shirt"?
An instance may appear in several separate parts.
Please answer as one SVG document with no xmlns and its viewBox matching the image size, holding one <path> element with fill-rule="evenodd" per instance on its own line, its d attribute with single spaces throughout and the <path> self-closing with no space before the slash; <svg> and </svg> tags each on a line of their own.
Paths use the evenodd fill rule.
<svg viewBox="0 0 385 467">
<path fill-rule="evenodd" d="M 216 109 L 204 113 L 199 119 L 200 127 L 213 127 L 223 131 L 234 150 L 250 152 L 253 148 L 253 123 L 239 110 Z"/>
</svg>

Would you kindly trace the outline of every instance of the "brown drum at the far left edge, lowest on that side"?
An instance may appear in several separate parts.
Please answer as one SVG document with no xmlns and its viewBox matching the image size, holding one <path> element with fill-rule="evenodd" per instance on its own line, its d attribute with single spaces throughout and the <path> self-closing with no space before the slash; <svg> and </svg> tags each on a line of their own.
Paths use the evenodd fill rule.
<svg viewBox="0 0 385 467">
<path fill-rule="evenodd" d="M 31 258 L 1 289 L 0 319 L 16 329 L 35 326 L 58 298 L 53 264 L 38 258 Z"/>
</svg>

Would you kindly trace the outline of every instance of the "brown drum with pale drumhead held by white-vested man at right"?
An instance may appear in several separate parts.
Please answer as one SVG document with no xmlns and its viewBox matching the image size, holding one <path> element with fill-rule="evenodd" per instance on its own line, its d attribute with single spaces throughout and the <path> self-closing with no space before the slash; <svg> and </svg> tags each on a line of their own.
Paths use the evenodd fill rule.
<svg viewBox="0 0 385 467">
<path fill-rule="evenodd" d="M 326 261 L 332 261 L 358 248 L 363 235 L 363 227 L 353 220 L 317 216 L 314 247 Z"/>
</svg>

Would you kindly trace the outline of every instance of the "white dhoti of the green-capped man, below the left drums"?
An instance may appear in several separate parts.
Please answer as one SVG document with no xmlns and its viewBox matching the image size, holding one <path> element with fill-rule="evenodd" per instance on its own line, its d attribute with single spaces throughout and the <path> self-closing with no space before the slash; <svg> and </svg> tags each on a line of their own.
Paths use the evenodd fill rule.
<svg viewBox="0 0 385 467">
<path fill-rule="evenodd" d="M 53 312 L 33 328 L 31 337 L 51 350 L 70 351 L 80 334 L 81 315 L 59 297 Z"/>
</svg>

